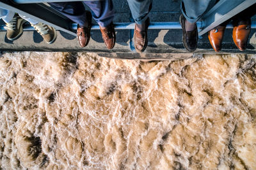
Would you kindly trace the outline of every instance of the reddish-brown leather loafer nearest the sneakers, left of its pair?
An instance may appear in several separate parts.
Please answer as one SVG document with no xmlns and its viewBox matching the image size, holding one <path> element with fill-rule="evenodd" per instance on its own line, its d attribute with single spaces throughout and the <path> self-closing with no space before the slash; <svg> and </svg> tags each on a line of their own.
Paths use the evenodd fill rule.
<svg viewBox="0 0 256 170">
<path fill-rule="evenodd" d="M 90 11 L 86 12 L 86 18 L 88 20 L 88 27 L 81 27 L 77 24 L 77 39 L 80 46 L 84 47 L 88 45 L 91 37 L 91 27 L 92 27 L 92 13 Z"/>
</svg>

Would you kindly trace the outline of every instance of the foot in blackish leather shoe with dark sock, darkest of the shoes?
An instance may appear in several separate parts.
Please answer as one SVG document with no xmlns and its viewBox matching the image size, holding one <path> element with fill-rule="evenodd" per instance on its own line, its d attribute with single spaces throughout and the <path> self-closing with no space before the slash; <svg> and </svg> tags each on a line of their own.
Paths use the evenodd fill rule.
<svg viewBox="0 0 256 170">
<path fill-rule="evenodd" d="M 197 27 L 196 24 L 191 23 L 191 25 L 187 25 L 188 31 L 186 31 L 186 18 L 184 15 L 180 15 L 180 25 L 182 27 L 182 41 L 184 47 L 189 51 L 189 52 L 194 52 L 197 48 L 197 41 L 198 41 L 198 32 L 197 32 Z M 195 27 L 193 31 L 189 31 L 191 27 Z"/>
</svg>

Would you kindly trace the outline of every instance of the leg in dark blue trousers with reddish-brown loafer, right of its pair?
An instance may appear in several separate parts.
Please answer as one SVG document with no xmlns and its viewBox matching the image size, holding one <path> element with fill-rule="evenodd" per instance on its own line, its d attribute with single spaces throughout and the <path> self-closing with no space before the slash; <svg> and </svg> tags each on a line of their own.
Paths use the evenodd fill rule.
<svg viewBox="0 0 256 170">
<path fill-rule="evenodd" d="M 100 25 L 102 39 L 108 49 L 115 46 L 116 34 L 113 18 L 115 10 L 112 0 L 83 1 L 91 10 L 93 19 Z"/>
</svg>

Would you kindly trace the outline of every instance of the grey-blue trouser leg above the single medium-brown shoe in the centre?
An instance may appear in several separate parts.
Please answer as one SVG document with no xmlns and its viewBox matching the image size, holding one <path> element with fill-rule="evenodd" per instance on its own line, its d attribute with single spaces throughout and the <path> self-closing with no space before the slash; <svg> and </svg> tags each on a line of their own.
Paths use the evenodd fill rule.
<svg viewBox="0 0 256 170">
<path fill-rule="evenodd" d="M 137 24 L 142 24 L 147 20 L 148 13 L 152 8 L 152 0 L 127 0 L 132 18 Z"/>
</svg>

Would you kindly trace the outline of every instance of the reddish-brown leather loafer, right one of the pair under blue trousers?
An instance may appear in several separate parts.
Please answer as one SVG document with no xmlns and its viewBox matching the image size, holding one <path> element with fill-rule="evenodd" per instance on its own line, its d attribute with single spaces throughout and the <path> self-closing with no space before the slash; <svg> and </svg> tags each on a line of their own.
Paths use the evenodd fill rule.
<svg viewBox="0 0 256 170">
<path fill-rule="evenodd" d="M 102 34 L 102 39 L 104 40 L 105 45 L 108 49 L 112 49 L 116 43 L 116 32 L 115 25 L 113 22 L 106 27 L 100 27 L 100 31 Z"/>
</svg>

